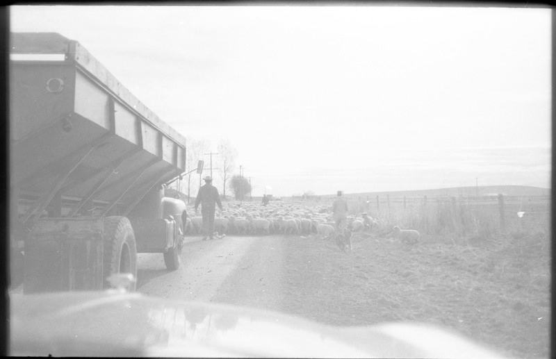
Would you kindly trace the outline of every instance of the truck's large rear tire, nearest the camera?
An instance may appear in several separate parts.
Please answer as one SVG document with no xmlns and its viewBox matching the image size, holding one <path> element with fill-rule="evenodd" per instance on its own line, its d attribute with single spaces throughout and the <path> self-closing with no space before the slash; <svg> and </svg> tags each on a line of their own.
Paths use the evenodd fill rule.
<svg viewBox="0 0 556 359">
<path fill-rule="evenodd" d="M 126 289 L 136 290 L 137 246 L 133 228 L 126 217 L 113 216 L 104 219 L 104 288 L 111 285 L 108 276 L 118 273 L 133 275 L 134 281 Z"/>
</svg>

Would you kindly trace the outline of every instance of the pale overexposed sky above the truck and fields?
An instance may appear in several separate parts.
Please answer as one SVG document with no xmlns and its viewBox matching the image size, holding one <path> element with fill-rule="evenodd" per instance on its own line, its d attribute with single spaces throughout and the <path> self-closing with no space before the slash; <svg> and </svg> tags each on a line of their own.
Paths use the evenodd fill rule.
<svg viewBox="0 0 556 359">
<path fill-rule="evenodd" d="M 77 40 L 188 139 L 228 139 L 254 196 L 550 187 L 550 9 L 324 4 L 10 6 L 10 31 Z"/>
</svg>

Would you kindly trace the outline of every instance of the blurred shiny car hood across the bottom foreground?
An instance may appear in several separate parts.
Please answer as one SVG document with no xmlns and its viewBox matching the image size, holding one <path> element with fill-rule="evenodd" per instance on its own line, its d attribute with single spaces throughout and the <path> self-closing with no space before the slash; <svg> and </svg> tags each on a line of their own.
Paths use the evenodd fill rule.
<svg viewBox="0 0 556 359">
<path fill-rule="evenodd" d="M 117 291 L 10 295 L 10 356 L 502 358 L 428 324 L 328 326 Z"/>
</svg>

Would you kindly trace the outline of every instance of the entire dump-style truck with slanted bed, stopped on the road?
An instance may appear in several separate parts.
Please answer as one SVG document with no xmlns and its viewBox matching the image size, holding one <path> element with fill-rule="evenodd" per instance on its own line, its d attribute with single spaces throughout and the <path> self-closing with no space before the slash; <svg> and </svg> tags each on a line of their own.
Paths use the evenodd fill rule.
<svg viewBox="0 0 556 359">
<path fill-rule="evenodd" d="M 180 266 L 186 139 L 79 42 L 10 33 L 9 235 L 24 294 L 136 289 L 137 253 Z"/>
</svg>

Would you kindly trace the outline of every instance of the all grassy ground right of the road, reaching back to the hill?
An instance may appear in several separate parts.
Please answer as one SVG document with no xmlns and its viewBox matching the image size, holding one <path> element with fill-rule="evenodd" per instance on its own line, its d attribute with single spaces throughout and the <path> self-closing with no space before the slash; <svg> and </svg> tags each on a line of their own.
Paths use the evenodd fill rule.
<svg viewBox="0 0 556 359">
<path fill-rule="evenodd" d="M 438 324 L 505 356 L 548 358 L 550 199 L 423 202 L 350 199 L 352 215 L 386 223 L 356 237 L 353 253 L 312 235 L 288 237 L 284 310 L 335 325 Z M 389 237 L 395 225 L 420 231 L 420 242 Z"/>
</svg>

